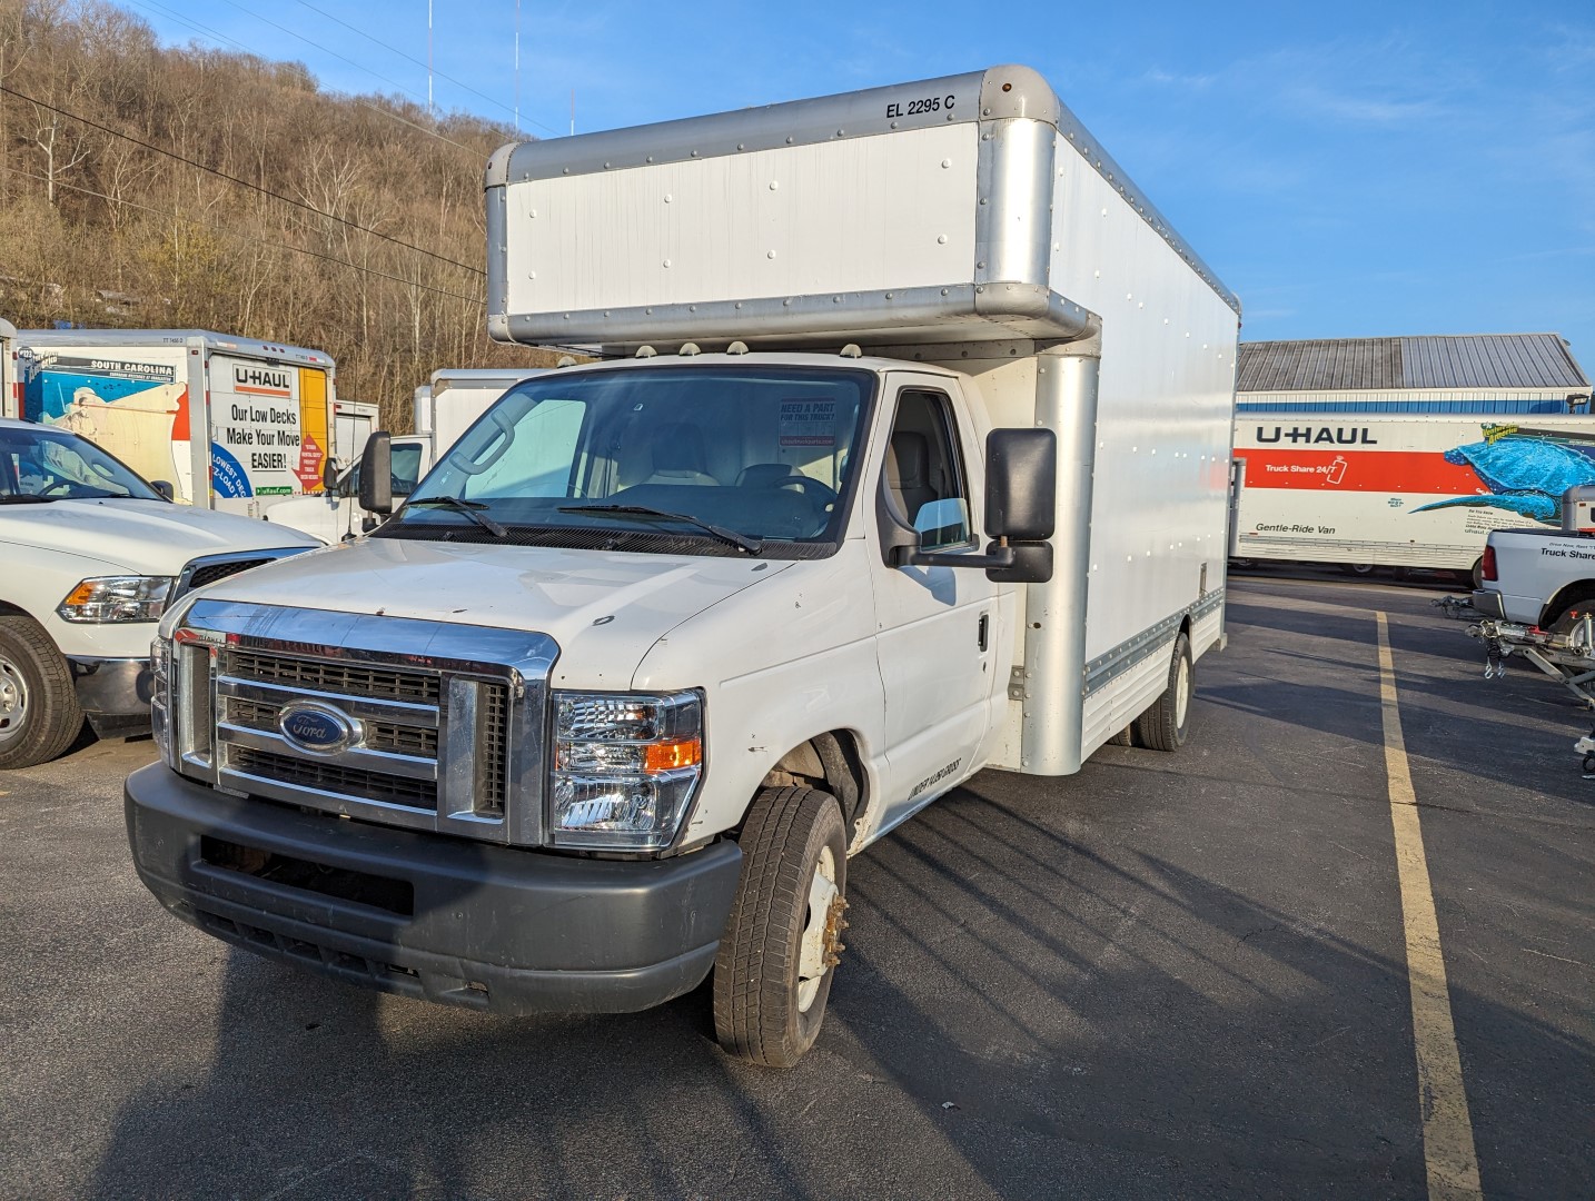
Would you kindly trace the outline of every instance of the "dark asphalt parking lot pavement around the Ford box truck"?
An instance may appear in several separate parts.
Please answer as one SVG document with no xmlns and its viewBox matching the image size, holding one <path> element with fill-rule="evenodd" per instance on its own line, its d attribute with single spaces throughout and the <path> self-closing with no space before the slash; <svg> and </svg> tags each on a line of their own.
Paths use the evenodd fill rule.
<svg viewBox="0 0 1595 1201">
<path fill-rule="evenodd" d="M 0 1195 L 1426 1196 L 1378 609 L 1482 1191 L 1587 1198 L 1589 723 L 1432 595 L 1231 581 L 1182 753 L 987 772 L 855 860 L 791 1072 L 702 990 L 499 1019 L 180 925 L 126 853 L 148 742 L 0 777 Z"/>
</svg>

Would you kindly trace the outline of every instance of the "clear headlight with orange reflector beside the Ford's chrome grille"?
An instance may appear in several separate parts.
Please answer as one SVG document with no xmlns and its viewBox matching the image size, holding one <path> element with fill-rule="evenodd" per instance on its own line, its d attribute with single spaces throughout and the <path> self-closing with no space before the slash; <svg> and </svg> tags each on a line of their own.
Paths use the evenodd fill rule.
<svg viewBox="0 0 1595 1201">
<path fill-rule="evenodd" d="M 668 847 L 703 775 L 702 697 L 555 692 L 553 710 L 553 845 Z"/>
</svg>

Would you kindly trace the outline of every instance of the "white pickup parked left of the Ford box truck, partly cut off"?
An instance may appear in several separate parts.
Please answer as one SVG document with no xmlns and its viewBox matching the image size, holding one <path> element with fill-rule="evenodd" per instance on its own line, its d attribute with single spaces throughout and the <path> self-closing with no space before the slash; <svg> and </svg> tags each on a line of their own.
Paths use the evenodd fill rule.
<svg viewBox="0 0 1595 1201">
<path fill-rule="evenodd" d="M 179 597 L 319 542 L 171 501 L 93 442 L 0 418 L 0 770 L 150 726 L 150 638 Z"/>
</svg>

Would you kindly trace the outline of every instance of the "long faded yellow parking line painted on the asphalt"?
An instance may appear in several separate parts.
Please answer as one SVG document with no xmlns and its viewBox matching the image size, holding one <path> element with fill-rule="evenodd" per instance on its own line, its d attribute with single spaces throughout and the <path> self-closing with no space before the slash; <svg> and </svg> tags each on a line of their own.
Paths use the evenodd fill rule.
<svg viewBox="0 0 1595 1201">
<path fill-rule="evenodd" d="M 1423 1161 L 1429 1199 L 1480 1198 L 1474 1124 L 1463 1088 L 1451 997 L 1440 954 L 1440 925 L 1434 916 L 1429 861 L 1423 853 L 1418 797 L 1412 791 L 1407 743 L 1396 703 L 1396 665 L 1389 625 L 1375 612 L 1380 632 L 1380 713 L 1384 718 L 1384 775 L 1389 782 L 1391 823 L 1396 828 L 1396 869 L 1400 877 L 1400 914 L 1407 931 L 1407 979 L 1412 987 L 1412 1032 L 1418 1051 L 1418 1105 L 1423 1113 Z"/>
</svg>

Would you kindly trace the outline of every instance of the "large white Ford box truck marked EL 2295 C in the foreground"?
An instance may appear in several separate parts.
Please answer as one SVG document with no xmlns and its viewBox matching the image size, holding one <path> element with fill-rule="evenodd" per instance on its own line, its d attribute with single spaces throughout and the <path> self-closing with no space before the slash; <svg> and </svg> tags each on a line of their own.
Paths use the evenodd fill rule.
<svg viewBox="0 0 1595 1201">
<path fill-rule="evenodd" d="M 625 357 L 166 617 L 134 860 L 440 1002 L 713 973 L 723 1045 L 791 1064 L 849 855 L 983 767 L 1185 738 L 1238 303 L 1019 67 L 506 147 L 486 214 L 493 335 Z"/>
</svg>

